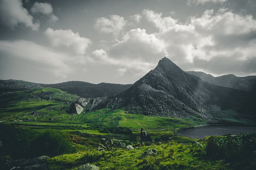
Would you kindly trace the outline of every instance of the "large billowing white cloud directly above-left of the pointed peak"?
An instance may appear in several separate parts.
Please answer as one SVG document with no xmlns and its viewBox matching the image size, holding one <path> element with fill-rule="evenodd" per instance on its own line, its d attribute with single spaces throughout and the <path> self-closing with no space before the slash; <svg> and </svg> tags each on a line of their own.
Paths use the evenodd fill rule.
<svg viewBox="0 0 256 170">
<path fill-rule="evenodd" d="M 95 63 L 124 67 L 126 72 L 140 78 L 156 66 L 159 59 L 166 56 L 164 41 L 156 35 L 147 34 L 145 29 L 132 29 L 122 41 L 107 51 L 96 49 L 92 52 Z"/>
</svg>

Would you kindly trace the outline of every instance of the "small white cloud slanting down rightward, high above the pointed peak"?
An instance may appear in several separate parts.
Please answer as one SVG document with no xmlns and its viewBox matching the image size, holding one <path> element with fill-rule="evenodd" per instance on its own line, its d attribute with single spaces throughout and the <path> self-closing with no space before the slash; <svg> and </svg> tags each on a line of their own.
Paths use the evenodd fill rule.
<svg viewBox="0 0 256 170">
<path fill-rule="evenodd" d="M 170 16 L 162 18 L 162 13 L 157 13 L 148 9 L 144 9 L 142 14 L 160 31 L 167 31 L 178 22 L 178 20 L 173 19 Z"/>
</svg>

